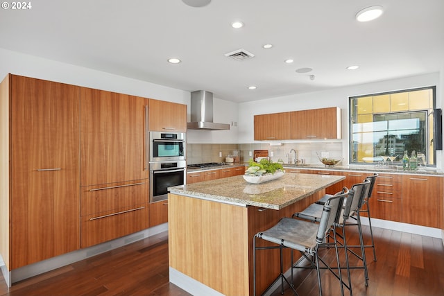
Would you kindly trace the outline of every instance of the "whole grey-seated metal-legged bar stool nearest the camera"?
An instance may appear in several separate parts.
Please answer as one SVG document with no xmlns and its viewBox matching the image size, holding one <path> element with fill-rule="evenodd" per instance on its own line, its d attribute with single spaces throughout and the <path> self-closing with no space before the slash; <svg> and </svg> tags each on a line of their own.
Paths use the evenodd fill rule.
<svg viewBox="0 0 444 296">
<path fill-rule="evenodd" d="M 290 248 L 291 250 L 298 250 L 305 256 L 311 258 L 311 262 L 316 266 L 316 272 L 318 275 L 318 287 L 319 295 L 322 296 L 322 285 L 319 262 L 322 262 L 328 267 L 328 265 L 318 256 L 318 250 L 321 247 L 332 247 L 334 245 L 336 251 L 336 264 L 338 273 L 334 272 L 332 268 L 329 270 L 333 272 L 339 283 L 341 284 L 341 294 L 343 295 L 343 281 L 341 277 L 341 268 L 339 265 L 338 246 L 336 244 L 336 238 L 334 243 L 326 243 L 329 232 L 333 229 L 339 220 L 339 212 L 341 211 L 343 199 L 348 195 L 348 191 L 343 193 L 339 192 L 327 200 L 322 206 L 321 219 L 319 223 L 311 223 L 308 221 L 297 220 L 293 218 L 282 218 L 279 223 L 264 232 L 258 232 L 253 238 L 253 295 L 256 295 L 256 250 L 268 250 L 268 249 L 280 249 L 280 275 L 273 281 L 273 283 L 266 288 L 266 293 L 275 283 L 281 281 L 281 293 L 284 293 L 284 281 L 290 286 L 295 295 L 298 295 L 296 289 L 289 283 L 288 279 L 284 276 L 282 250 L 284 248 Z M 276 246 L 257 247 L 256 239 L 262 238 L 265 241 L 275 243 Z M 291 262 L 293 264 L 293 262 Z M 293 268 L 291 268 L 291 281 L 293 281 Z"/>
</svg>

